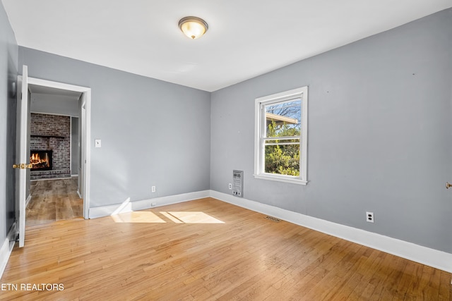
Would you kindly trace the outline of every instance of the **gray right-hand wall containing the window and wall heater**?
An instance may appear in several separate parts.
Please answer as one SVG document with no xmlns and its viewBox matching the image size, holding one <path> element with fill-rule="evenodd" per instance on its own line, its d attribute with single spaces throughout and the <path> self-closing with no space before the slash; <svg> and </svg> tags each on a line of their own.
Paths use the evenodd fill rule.
<svg viewBox="0 0 452 301">
<path fill-rule="evenodd" d="M 451 49 L 448 9 L 213 92 L 210 189 L 452 252 Z M 308 185 L 255 179 L 254 99 L 304 85 Z"/>
</svg>

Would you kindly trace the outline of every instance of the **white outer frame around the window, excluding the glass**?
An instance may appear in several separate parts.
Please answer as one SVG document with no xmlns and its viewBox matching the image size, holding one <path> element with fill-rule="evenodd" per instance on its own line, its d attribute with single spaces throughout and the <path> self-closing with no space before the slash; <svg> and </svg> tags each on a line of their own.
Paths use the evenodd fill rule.
<svg viewBox="0 0 452 301">
<path fill-rule="evenodd" d="M 302 101 L 302 121 L 300 139 L 300 171 L 299 176 L 278 175 L 275 173 L 265 173 L 264 160 L 264 132 L 266 130 L 265 106 L 278 102 L 287 102 L 290 99 L 301 99 Z M 254 103 L 255 130 L 254 130 L 254 178 L 265 180 L 276 180 L 286 183 L 307 185 L 307 142 L 308 142 L 308 87 L 300 87 L 294 90 L 280 92 L 277 94 L 258 97 Z"/>
</svg>

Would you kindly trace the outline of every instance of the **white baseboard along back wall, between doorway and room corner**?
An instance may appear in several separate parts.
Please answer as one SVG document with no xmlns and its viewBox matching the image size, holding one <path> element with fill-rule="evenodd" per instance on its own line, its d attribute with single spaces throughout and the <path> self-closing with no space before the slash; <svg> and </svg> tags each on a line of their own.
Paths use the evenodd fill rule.
<svg viewBox="0 0 452 301">
<path fill-rule="evenodd" d="M 89 216 L 90 219 L 96 219 L 102 216 L 109 216 L 112 214 L 148 209 L 151 207 L 160 207 L 169 204 L 182 203 L 191 201 L 193 199 L 202 199 L 203 197 L 209 196 L 210 190 L 203 190 L 197 192 L 184 193 L 182 195 L 169 195 L 167 197 L 155 197 L 153 199 L 143 199 L 140 201 L 133 202 L 131 202 L 130 199 L 126 199 L 122 204 L 90 208 Z M 153 203 L 155 203 L 155 206 L 153 206 Z"/>
</svg>

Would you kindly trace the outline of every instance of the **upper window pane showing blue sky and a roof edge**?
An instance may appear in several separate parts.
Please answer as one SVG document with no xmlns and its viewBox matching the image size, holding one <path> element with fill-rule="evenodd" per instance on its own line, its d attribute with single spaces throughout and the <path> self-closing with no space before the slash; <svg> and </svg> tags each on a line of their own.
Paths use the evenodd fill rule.
<svg viewBox="0 0 452 301">
<path fill-rule="evenodd" d="M 294 99 L 264 106 L 265 137 L 299 136 L 302 120 L 302 101 Z"/>
</svg>

